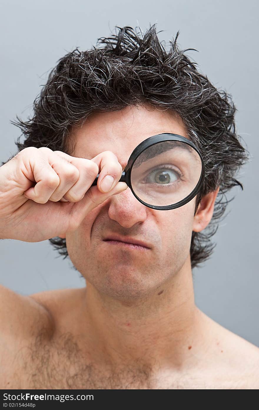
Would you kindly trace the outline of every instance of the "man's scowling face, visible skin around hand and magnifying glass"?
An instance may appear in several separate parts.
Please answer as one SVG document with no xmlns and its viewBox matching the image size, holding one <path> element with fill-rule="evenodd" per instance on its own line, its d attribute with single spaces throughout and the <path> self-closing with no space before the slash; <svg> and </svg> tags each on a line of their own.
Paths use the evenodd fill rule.
<svg viewBox="0 0 259 410">
<path fill-rule="evenodd" d="M 179 117 L 149 105 L 94 113 L 81 128 L 74 128 L 76 145 L 70 155 L 92 159 L 112 151 L 124 169 L 140 142 L 163 132 L 187 137 Z M 159 292 L 178 273 L 190 269 L 195 200 L 174 210 L 153 210 L 127 188 L 66 234 L 70 259 L 87 282 L 112 298 L 131 300 Z M 150 248 L 130 249 L 104 241 L 113 234 L 144 241 Z"/>
</svg>

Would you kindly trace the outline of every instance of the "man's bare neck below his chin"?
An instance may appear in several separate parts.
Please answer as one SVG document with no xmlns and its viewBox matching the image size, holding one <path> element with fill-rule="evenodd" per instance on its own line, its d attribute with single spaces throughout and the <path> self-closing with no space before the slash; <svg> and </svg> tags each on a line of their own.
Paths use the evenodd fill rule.
<svg viewBox="0 0 259 410">
<path fill-rule="evenodd" d="M 88 283 L 78 322 L 81 333 L 86 331 L 87 350 L 92 348 L 98 358 L 114 365 L 141 359 L 151 367 L 185 366 L 201 342 L 191 269 L 183 269 L 162 290 L 122 301 L 100 294 Z"/>
</svg>

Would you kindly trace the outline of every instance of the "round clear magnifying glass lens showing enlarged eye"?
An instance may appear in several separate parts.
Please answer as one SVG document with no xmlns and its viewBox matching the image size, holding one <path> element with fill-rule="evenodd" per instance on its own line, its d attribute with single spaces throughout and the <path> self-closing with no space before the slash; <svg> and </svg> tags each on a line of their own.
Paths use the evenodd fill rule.
<svg viewBox="0 0 259 410">
<path fill-rule="evenodd" d="M 194 148 L 180 141 L 162 141 L 137 157 L 131 185 L 137 197 L 149 205 L 174 205 L 191 194 L 201 173 L 201 159 Z"/>
</svg>

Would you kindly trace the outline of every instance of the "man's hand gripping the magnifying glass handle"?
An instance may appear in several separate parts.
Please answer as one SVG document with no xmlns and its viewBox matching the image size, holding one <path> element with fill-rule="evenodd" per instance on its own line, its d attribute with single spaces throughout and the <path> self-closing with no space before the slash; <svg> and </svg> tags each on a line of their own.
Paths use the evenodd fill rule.
<svg viewBox="0 0 259 410">
<path fill-rule="evenodd" d="M 108 192 L 106 175 L 113 182 Z M 110 151 L 84 159 L 47 147 L 23 149 L 0 167 L 0 239 L 39 242 L 76 230 L 88 212 L 127 188 L 121 175 Z"/>
</svg>

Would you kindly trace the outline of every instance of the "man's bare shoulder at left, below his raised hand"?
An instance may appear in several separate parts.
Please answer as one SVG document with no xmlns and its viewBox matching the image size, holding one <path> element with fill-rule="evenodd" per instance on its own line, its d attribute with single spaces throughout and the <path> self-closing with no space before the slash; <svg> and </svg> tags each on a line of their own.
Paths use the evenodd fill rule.
<svg viewBox="0 0 259 410">
<path fill-rule="evenodd" d="M 11 380 L 20 377 L 19 366 L 21 362 L 26 362 L 29 354 L 27 346 L 38 335 L 43 341 L 50 339 L 54 326 L 52 315 L 36 299 L 2 285 L 0 296 L 0 385 L 10 387 Z M 24 360 L 25 351 L 27 355 Z M 15 363 L 16 376 L 11 363 Z"/>
</svg>

